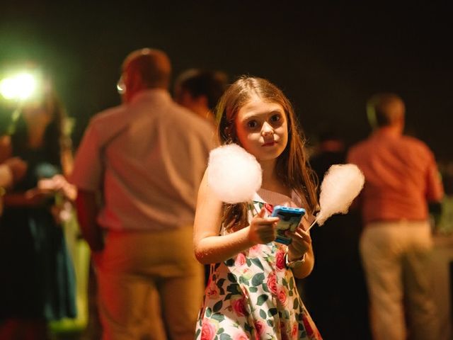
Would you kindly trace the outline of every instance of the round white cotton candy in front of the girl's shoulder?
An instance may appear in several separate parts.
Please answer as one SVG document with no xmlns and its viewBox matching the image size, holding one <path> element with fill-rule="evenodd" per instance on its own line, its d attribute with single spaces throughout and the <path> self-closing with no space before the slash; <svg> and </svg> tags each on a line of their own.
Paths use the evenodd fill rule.
<svg viewBox="0 0 453 340">
<path fill-rule="evenodd" d="M 261 187 L 263 170 L 253 155 L 236 144 L 217 147 L 210 152 L 207 185 L 225 203 L 253 200 Z"/>
</svg>

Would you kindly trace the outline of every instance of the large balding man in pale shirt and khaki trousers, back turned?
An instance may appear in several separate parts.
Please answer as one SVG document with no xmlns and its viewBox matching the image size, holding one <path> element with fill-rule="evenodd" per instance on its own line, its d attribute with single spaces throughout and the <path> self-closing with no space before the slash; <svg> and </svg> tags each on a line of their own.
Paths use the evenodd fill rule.
<svg viewBox="0 0 453 340">
<path fill-rule="evenodd" d="M 173 103 L 170 75 L 164 52 L 130 53 L 117 84 L 122 105 L 91 120 L 76 153 L 72 181 L 96 266 L 103 339 L 195 334 L 203 273 L 193 220 L 214 136 L 210 123 Z M 160 325 L 144 331 L 156 315 Z"/>
</svg>

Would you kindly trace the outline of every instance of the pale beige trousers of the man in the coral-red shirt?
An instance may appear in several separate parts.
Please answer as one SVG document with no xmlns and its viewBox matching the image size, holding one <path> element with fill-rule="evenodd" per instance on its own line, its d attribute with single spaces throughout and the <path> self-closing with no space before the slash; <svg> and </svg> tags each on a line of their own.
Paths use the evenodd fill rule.
<svg viewBox="0 0 453 340">
<path fill-rule="evenodd" d="M 428 268 L 431 249 L 428 222 L 373 222 L 366 226 L 360 254 L 374 339 L 406 340 L 407 335 L 409 339 L 438 339 Z"/>
</svg>

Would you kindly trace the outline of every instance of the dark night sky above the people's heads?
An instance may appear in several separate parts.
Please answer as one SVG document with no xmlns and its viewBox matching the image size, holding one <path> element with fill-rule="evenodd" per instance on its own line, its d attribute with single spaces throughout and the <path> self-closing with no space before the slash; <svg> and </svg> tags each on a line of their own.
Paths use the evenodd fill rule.
<svg viewBox="0 0 453 340">
<path fill-rule="evenodd" d="M 54 2 L 54 1 L 52 1 Z M 189 67 L 265 77 L 292 100 L 307 135 L 321 122 L 356 142 L 365 101 L 395 91 L 411 133 L 453 159 L 452 20 L 439 5 L 308 5 L 308 1 L 2 1 L 0 66 L 36 60 L 52 72 L 78 142 L 88 118 L 119 103 L 131 50 L 156 47 Z M 277 1 L 275 1 L 277 2 Z M 302 2 L 306 3 L 301 4 Z"/>
</svg>

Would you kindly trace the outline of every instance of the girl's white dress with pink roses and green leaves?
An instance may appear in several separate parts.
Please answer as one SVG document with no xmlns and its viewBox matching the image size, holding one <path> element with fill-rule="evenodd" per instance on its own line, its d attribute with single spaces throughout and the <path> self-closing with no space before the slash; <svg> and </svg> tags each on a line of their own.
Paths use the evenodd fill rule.
<svg viewBox="0 0 453 340">
<path fill-rule="evenodd" d="M 270 215 L 274 205 L 294 207 L 294 201 L 295 194 L 260 189 L 253 204 Z M 257 244 L 212 264 L 195 339 L 322 339 L 286 266 L 286 252 L 284 244 Z"/>
</svg>

